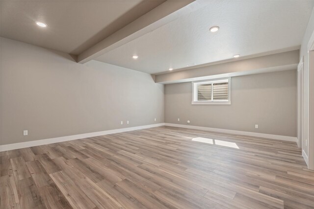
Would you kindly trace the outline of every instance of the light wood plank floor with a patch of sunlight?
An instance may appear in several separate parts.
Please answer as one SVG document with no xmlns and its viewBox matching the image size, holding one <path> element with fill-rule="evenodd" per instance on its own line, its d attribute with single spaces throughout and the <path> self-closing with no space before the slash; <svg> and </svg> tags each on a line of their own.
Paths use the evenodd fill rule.
<svg viewBox="0 0 314 209">
<path fill-rule="evenodd" d="M 314 208 L 294 142 L 163 126 L 0 156 L 1 209 Z"/>
</svg>

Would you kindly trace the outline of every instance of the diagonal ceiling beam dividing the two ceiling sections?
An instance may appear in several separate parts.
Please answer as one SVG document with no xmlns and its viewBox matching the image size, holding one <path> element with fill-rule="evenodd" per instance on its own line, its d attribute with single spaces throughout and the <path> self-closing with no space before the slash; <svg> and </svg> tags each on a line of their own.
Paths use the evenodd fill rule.
<svg viewBox="0 0 314 209">
<path fill-rule="evenodd" d="M 80 53 L 77 61 L 78 63 L 86 63 L 207 4 L 207 1 L 167 0 L 103 41 Z"/>
</svg>

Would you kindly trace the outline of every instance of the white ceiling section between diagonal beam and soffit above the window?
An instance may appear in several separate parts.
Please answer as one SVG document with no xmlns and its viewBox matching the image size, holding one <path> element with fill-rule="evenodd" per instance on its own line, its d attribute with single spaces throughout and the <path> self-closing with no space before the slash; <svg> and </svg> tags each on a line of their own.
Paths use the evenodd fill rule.
<svg viewBox="0 0 314 209">
<path fill-rule="evenodd" d="M 299 46 L 313 5 L 313 0 L 212 0 L 96 60 L 157 74 Z M 209 32 L 214 25 L 220 30 Z"/>
</svg>

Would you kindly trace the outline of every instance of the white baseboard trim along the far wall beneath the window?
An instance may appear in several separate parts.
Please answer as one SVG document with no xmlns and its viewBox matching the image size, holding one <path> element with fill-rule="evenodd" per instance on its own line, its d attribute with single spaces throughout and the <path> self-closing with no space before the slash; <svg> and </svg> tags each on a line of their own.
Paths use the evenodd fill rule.
<svg viewBox="0 0 314 209">
<path fill-rule="evenodd" d="M 297 141 L 296 137 L 288 137 L 288 136 L 273 135 L 273 134 L 262 134 L 262 133 L 247 132 L 247 131 L 236 131 L 236 130 L 229 130 L 229 129 L 209 128 L 209 127 L 182 125 L 182 124 L 174 124 L 174 123 L 165 123 L 165 126 L 190 128 L 190 129 L 220 132 L 220 133 L 226 133 L 226 134 L 237 134 L 237 135 L 260 137 L 260 138 L 266 138 L 266 139 L 277 139 L 277 140 L 294 141 L 294 142 Z"/>
</svg>

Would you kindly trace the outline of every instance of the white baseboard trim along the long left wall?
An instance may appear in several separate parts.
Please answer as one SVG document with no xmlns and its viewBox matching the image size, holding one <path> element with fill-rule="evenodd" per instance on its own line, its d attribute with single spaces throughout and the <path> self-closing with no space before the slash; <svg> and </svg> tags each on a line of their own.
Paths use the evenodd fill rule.
<svg viewBox="0 0 314 209">
<path fill-rule="evenodd" d="M 13 143 L 13 144 L 4 144 L 0 145 L 0 152 L 7 151 L 7 150 L 13 150 L 13 149 L 21 149 L 25 147 L 32 147 L 32 146 L 39 146 L 44 144 L 52 144 L 62 141 L 70 141 L 75 139 L 84 139 L 89 137 L 98 137 L 108 134 L 116 134 L 126 131 L 135 131 L 145 128 L 153 128 L 158 126 L 163 126 L 164 123 L 157 123 L 157 124 L 151 124 L 151 125 L 143 125 L 143 126 L 135 126 L 130 128 L 120 128 L 120 129 L 114 129 L 114 130 L 107 130 L 107 131 L 99 131 L 99 132 L 93 132 L 93 133 L 87 133 L 87 134 L 78 134 L 78 135 L 72 135 L 72 136 L 66 136 L 66 137 L 57 137 L 57 138 L 51 138 L 51 139 L 41 139 L 41 140 L 34 140 L 34 141 L 25 141 L 20 143 Z"/>
</svg>

